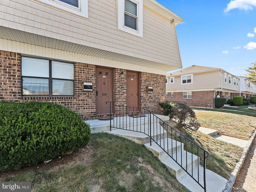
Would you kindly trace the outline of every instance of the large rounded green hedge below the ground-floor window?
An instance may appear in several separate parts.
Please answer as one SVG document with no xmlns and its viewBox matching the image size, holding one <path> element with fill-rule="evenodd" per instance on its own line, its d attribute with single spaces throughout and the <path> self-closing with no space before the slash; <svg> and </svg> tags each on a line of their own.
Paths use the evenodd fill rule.
<svg viewBox="0 0 256 192">
<path fill-rule="evenodd" d="M 90 126 L 49 102 L 0 102 L 0 171 L 36 165 L 85 146 Z"/>
</svg>

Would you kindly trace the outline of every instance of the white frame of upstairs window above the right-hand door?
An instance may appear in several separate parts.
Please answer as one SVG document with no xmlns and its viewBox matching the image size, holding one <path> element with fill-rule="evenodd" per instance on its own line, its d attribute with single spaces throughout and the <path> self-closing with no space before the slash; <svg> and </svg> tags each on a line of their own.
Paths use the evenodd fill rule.
<svg viewBox="0 0 256 192">
<path fill-rule="evenodd" d="M 124 25 L 124 0 L 117 1 L 118 29 L 138 37 L 143 37 L 143 0 L 129 0 L 137 4 L 137 30 Z"/>
</svg>

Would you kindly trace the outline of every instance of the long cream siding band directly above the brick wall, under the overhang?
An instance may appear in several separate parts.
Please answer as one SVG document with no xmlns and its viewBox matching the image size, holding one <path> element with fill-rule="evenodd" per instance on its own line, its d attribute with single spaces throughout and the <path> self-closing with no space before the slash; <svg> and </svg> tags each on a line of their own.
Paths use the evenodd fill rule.
<svg viewBox="0 0 256 192">
<path fill-rule="evenodd" d="M 41 58 L 57 59 L 61 61 L 81 62 L 105 67 L 122 68 L 154 74 L 166 74 L 166 70 L 163 69 L 156 69 L 142 65 L 135 65 L 133 63 L 114 61 L 111 59 L 104 59 L 100 57 L 93 57 L 69 51 L 51 49 L 6 39 L 0 39 L 0 50 L 3 50 L 4 48 L 6 49 L 6 51 L 19 52 L 26 56 L 37 56 Z"/>
</svg>

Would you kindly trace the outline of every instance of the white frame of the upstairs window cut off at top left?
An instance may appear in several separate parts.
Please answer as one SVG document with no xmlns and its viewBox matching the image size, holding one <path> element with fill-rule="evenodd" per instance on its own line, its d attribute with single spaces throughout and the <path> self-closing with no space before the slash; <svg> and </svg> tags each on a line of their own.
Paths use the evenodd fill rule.
<svg viewBox="0 0 256 192">
<path fill-rule="evenodd" d="M 88 0 L 78 0 L 78 7 L 69 5 L 68 3 L 64 3 L 58 0 L 37 0 L 59 9 L 63 9 L 67 12 L 88 18 Z"/>
</svg>

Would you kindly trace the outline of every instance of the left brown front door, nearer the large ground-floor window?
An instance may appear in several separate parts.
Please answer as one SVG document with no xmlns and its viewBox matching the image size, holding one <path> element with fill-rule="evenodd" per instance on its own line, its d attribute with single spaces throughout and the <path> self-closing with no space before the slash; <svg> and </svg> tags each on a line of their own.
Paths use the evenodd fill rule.
<svg viewBox="0 0 256 192">
<path fill-rule="evenodd" d="M 96 67 L 96 114 L 108 114 L 113 101 L 113 70 Z"/>
</svg>

